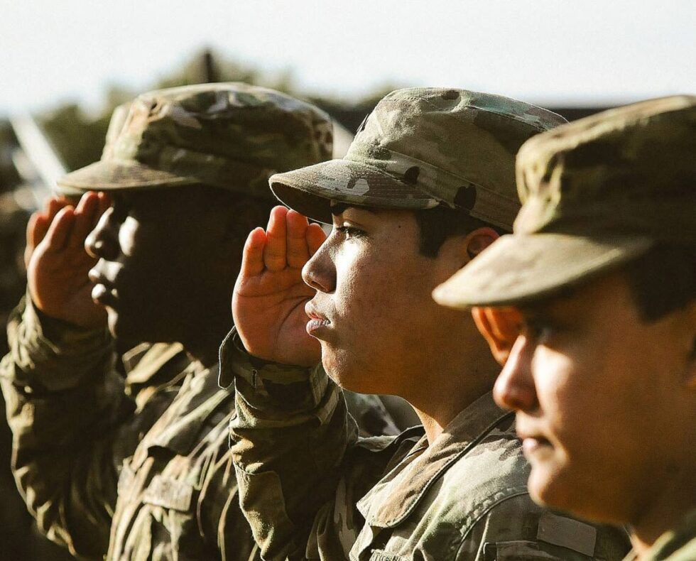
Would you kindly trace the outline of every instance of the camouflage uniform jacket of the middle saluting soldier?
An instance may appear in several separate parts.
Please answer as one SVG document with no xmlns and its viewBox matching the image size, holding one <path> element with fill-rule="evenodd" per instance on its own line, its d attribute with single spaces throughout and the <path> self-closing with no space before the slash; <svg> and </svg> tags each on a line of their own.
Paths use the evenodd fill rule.
<svg viewBox="0 0 696 561">
<path fill-rule="evenodd" d="M 623 531 L 531 501 L 512 414 L 490 394 L 428 446 L 420 426 L 359 438 L 320 366 L 264 363 L 234 332 L 221 378 L 234 378 L 231 450 L 264 559 L 620 560 L 629 549 Z"/>
</svg>

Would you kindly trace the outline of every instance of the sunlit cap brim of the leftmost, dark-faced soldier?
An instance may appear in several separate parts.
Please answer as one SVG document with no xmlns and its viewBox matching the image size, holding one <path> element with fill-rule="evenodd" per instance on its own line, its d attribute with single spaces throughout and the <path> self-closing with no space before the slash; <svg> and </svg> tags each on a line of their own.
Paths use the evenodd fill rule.
<svg viewBox="0 0 696 561">
<path fill-rule="evenodd" d="M 85 191 L 151 189 L 193 183 L 200 183 L 200 180 L 156 170 L 134 161 L 99 160 L 60 178 L 58 192 L 72 195 Z"/>
</svg>

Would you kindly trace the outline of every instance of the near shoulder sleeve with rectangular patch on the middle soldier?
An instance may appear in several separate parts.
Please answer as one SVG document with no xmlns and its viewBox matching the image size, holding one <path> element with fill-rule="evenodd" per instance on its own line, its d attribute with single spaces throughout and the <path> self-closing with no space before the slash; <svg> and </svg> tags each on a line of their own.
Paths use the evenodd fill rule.
<svg viewBox="0 0 696 561">
<path fill-rule="evenodd" d="M 630 549 L 625 530 L 593 525 L 536 505 L 527 493 L 482 514 L 467 531 L 457 560 L 620 561 Z"/>
</svg>

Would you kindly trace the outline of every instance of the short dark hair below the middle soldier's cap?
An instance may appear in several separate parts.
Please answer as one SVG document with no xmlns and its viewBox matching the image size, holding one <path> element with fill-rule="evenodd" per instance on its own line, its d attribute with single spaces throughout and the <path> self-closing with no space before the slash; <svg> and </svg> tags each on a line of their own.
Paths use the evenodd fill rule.
<svg viewBox="0 0 696 561">
<path fill-rule="evenodd" d="M 509 234 L 500 227 L 472 217 L 467 209 L 452 209 L 446 205 L 415 211 L 415 221 L 420 229 L 420 253 L 426 257 L 437 257 L 447 238 L 466 236 L 478 228 L 489 227 L 499 235 Z"/>
</svg>

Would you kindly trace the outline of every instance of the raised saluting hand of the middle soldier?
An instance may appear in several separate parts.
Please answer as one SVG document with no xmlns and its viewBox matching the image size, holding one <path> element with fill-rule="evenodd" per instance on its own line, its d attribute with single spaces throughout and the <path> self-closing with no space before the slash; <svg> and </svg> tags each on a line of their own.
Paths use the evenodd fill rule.
<svg viewBox="0 0 696 561">
<path fill-rule="evenodd" d="M 305 303 L 315 290 L 301 273 L 325 239 L 318 224 L 285 207 L 271 211 L 265 232 L 249 234 L 232 296 L 234 325 L 249 353 L 299 366 L 321 360 L 319 342 L 306 331 Z"/>
</svg>

